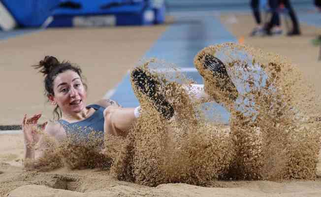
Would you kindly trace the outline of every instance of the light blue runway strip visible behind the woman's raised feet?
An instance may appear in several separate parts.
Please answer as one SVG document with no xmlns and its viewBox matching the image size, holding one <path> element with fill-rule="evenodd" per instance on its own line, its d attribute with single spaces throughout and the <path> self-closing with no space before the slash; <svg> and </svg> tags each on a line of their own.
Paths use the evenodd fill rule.
<svg viewBox="0 0 321 197">
<path fill-rule="evenodd" d="M 175 22 L 147 51 L 145 58 L 158 58 L 178 67 L 191 68 L 183 74 L 202 83 L 201 76 L 193 69 L 193 59 L 197 52 L 209 45 L 234 41 L 236 39 L 214 16 L 176 16 Z M 111 99 L 117 100 L 124 107 L 139 105 L 131 89 L 129 75 L 119 84 Z M 225 109 L 219 105 L 216 108 L 222 113 L 224 122 L 227 122 L 229 115 Z"/>
</svg>

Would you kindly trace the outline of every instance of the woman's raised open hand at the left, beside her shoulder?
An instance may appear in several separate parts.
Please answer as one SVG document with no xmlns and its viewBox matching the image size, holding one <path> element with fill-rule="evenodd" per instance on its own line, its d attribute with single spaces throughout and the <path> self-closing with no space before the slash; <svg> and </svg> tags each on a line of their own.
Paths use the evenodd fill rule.
<svg viewBox="0 0 321 197">
<path fill-rule="evenodd" d="M 40 126 L 40 129 L 37 127 L 37 122 L 40 117 L 41 114 L 38 114 L 27 119 L 27 115 L 25 115 L 22 121 L 22 131 L 24 133 L 25 145 L 27 149 L 33 148 L 39 142 L 41 134 L 47 125 L 47 122 L 45 122 Z"/>
</svg>

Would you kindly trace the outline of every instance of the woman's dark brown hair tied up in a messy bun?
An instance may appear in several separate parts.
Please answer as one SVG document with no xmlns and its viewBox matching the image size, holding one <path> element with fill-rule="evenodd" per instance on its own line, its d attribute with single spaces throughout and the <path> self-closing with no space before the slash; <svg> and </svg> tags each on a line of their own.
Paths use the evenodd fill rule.
<svg viewBox="0 0 321 197">
<path fill-rule="evenodd" d="M 46 56 L 43 60 L 40 60 L 38 65 L 33 65 L 35 69 L 39 69 L 39 72 L 43 73 L 45 76 L 44 86 L 45 86 L 45 95 L 47 96 L 55 96 L 54 93 L 54 80 L 58 76 L 58 74 L 63 73 L 67 70 L 72 70 L 76 72 L 81 81 L 83 82 L 82 70 L 79 66 L 75 66 L 70 64 L 69 62 L 59 62 L 57 58 L 53 56 Z M 85 88 L 87 89 L 87 85 L 83 82 Z M 62 112 L 57 105 L 53 111 L 54 119 L 57 118 L 59 120 L 62 117 Z"/>
</svg>

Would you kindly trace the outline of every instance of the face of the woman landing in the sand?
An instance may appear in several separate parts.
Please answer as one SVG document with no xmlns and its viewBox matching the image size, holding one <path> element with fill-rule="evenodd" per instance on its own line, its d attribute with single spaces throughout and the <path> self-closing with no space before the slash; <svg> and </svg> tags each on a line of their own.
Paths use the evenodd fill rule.
<svg viewBox="0 0 321 197">
<path fill-rule="evenodd" d="M 63 113 L 79 113 L 86 107 L 87 92 L 80 76 L 66 70 L 54 80 L 55 96 L 49 98 L 58 104 Z"/>
</svg>

